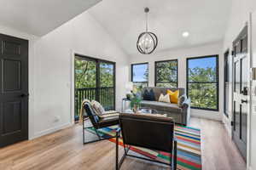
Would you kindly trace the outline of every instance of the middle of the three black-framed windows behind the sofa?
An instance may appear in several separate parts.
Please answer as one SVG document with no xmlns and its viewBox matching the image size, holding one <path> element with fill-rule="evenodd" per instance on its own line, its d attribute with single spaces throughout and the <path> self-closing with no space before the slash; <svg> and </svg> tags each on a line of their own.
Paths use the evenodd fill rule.
<svg viewBox="0 0 256 170">
<path fill-rule="evenodd" d="M 154 86 L 177 88 L 177 59 L 154 62 Z"/>
</svg>

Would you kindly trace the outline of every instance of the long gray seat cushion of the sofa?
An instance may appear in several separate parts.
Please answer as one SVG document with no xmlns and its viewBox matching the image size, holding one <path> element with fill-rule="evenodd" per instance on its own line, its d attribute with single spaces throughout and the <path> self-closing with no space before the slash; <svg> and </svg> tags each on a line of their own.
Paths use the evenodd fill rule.
<svg viewBox="0 0 256 170">
<path fill-rule="evenodd" d="M 141 105 L 143 107 L 149 107 L 151 109 L 157 110 L 157 111 L 169 111 L 169 112 L 182 112 L 182 108 L 178 107 L 177 104 L 171 104 L 171 103 L 163 103 L 159 101 L 148 101 L 143 100 L 141 102 Z"/>
</svg>

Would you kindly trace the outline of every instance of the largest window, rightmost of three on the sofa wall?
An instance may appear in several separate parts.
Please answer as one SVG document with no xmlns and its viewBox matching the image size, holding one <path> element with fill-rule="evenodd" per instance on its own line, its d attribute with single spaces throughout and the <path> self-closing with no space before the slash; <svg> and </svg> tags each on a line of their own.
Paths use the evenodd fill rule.
<svg viewBox="0 0 256 170">
<path fill-rule="evenodd" d="M 187 59 L 191 107 L 218 111 L 218 55 Z"/>
</svg>

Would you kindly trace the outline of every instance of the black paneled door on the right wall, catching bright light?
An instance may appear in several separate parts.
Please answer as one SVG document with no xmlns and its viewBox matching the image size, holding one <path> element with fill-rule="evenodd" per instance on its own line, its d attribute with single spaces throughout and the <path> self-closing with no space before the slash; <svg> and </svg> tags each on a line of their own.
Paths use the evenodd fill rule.
<svg viewBox="0 0 256 170">
<path fill-rule="evenodd" d="M 247 112 L 249 61 L 247 55 L 247 27 L 234 42 L 234 92 L 232 138 L 241 156 L 247 159 Z"/>
</svg>

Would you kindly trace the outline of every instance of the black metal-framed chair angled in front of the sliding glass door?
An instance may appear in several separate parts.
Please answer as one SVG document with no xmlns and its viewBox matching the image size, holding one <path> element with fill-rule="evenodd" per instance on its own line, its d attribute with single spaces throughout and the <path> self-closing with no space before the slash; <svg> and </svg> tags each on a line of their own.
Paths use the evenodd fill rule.
<svg viewBox="0 0 256 170">
<path fill-rule="evenodd" d="M 95 128 L 96 135 L 98 139 L 92 140 L 92 141 L 85 141 L 85 130 L 86 128 L 91 127 L 85 127 L 85 120 L 90 119 L 90 122 L 92 124 L 92 127 Z M 108 116 L 106 118 L 102 118 L 96 115 L 95 111 L 91 108 L 90 103 L 84 103 L 84 114 L 83 114 L 83 142 L 84 144 L 89 144 L 105 139 L 112 139 L 115 138 L 115 136 L 110 136 L 108 138 L 102 138 L 101 135 L 98 133 L 98 129 L 103 127 L 111 127 L 113 125 L 119 124 L 119 116 Z"/>
</svg>

